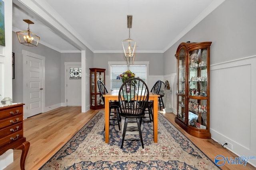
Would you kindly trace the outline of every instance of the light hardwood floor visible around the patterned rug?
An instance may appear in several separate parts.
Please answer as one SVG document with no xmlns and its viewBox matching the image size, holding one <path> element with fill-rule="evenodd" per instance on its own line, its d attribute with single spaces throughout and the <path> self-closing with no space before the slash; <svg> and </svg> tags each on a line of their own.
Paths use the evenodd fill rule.
<svg viewBox="0 0 256 170">
<path fill-rule="evenodd" d="M 81 107 L 59 107 L 25 119 L 24 137 L 30 142 L 25 169 L 37 170 L 40 168 L 98 111 L 89 110 L 86 113 L 81 113 Z M 217 155 L 237 157 L 212 139 L 199 139 L 186 133 L 174 122 L 175 115 L 173 113 L 164 113 L 163 115 L 210 159 L 214 160 Z M 20 150 L 14 150 L 14 162 L 4 170 L 20 169 L 20 155 Z M 256 170 L 250 164 L 244 167 L 242 165 L 229 165 L 226 163 L 221 168 L 223 170 Z"/>
</svg>

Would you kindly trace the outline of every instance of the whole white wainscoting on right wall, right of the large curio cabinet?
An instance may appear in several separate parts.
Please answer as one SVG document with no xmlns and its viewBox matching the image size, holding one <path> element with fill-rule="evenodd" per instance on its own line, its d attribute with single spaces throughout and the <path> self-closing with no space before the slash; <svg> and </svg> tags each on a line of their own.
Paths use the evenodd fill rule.
<svg viewBox="0 0 256 170">
<path fill-rule="evenodd" d="M 210 132 L 238 156 L 256 155 L 256 56 L 211 65 Z M 217 156 L 217 155 L 216 155 Z M 248 160 L 256 166 L 256 160 Z"/>
</svg>

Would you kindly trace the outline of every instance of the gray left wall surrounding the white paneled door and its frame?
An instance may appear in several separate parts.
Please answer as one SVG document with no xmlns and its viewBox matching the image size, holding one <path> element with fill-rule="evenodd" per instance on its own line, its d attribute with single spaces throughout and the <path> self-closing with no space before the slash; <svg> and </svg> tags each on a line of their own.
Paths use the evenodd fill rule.
<svg viewBox="0 0 256 170">
<path fill-rule="evenodd" d="M 45 57 L 45 106 L 60 103 L 60 56 L 61 54 L 42 44 L 38 47 L 28 47 L 18 41 L 15 32 L 12 32 L 12 51 L 15 53 L 15 78 L 13 84 L 13 102 L 23 102 L 23 66 L 22 50 L 36 53 Z"/>
</svg>

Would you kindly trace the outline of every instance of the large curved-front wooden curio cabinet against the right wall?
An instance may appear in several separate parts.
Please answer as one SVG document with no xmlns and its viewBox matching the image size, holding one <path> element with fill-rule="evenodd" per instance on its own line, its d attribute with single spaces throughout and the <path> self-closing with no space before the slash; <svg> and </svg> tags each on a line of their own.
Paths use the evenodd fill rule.
<svg viewBox="0 0 256 170">
<path fill-rule="evenodd" d="M 212 42 L 178 46 L 177 115 L 175 122 L 195 137 L 210 139 L 210 46 Z"/>
</svg>

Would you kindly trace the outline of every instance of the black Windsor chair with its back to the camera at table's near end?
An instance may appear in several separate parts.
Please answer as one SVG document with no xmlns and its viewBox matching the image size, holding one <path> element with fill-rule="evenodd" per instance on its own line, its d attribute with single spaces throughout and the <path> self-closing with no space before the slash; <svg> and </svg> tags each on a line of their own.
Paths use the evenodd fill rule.
<svg viewBox="0 0 256 170">
<path fill-rule="evenodd" d="M 142 133 L 141 133 L 141 124 L 142 124 L 142 117 L 144 117 L 145 115 L 146 106 L 148 105 L 148 99 L 149 99 L 148 86 L 140 78 L 130 78 L 122 84 L 118 92 L 120 115 L 125 118 L 124 129 L 122 133 L 121 149 L 123 148 L 124 141 L 139 141 L 139 140 L 141 141 L 142 148 L 144 148 Z M 138 101 L 140 101 L 140 104 L 137 104 Z M 131 123 L 130 121 L 131 119 L 136 119 L 135 122 L 137 122 L 137 126 L 128 127 L 128 123 Z M 136 138 L 125 139 L 126 131 L 139 131 L 140 139 L 136 139 Z"/>
</svg>

